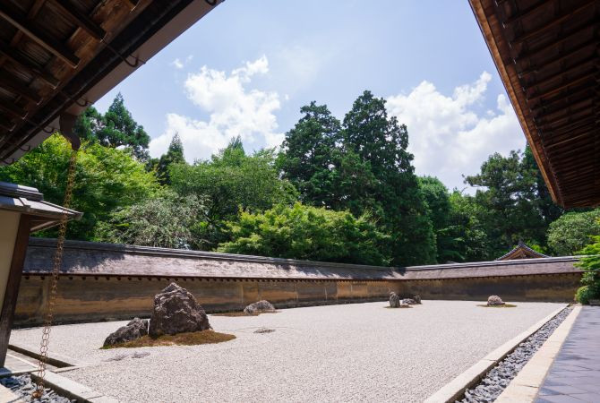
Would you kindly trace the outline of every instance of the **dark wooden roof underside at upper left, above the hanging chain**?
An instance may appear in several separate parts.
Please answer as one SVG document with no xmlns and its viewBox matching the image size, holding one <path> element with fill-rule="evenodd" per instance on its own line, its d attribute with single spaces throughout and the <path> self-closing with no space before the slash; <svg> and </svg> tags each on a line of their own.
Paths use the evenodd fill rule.
<svg viewBox="0 0 600 403">
<path fill-rule="evenodd" d="M 0 164 L 79 116 L 220 0 L 0 0 Z M 63 124 L 65 122 L 65 124 Z"/>
</svg>

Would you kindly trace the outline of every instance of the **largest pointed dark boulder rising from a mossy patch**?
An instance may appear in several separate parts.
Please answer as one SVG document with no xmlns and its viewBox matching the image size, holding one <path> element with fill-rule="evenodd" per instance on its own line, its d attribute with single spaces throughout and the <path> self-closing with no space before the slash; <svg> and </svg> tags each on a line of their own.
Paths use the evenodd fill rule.
<svg viewBox="0 0 600 403">
<path fill-rule="evenodd" d="M 148 330 L 151 338 L 209 329 L 212 329 L 209 317 L 185 288 L 171 283 L 154 296 L 154 310 Z"/>
</svg>

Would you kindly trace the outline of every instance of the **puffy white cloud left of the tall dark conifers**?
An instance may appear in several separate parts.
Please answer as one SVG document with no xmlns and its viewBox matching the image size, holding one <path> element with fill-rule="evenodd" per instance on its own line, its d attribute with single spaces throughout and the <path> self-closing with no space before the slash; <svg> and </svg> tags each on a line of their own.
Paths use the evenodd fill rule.
<svg viewBox="0 0 600 403">
<path fill-rule="evenodd" d="M 229 74 L 207 66 L 189 74 L 184 82 L 187 98 L 207 112 L 209 118 L 197 120 L 168 114 L 165 132 L 150 141 L 150 155 L 158 157 L 165 152 L 175 133 L 179 133 L 185 159 L 190 162 L 210 158 L 237 135 L 247 150 L 278 146 L 283 141 L 274 115 L 280 107 L 279 94 L 247 89 L 254 75 L 266 73 L 269 61 L 261 56 Z"/>
</svg>

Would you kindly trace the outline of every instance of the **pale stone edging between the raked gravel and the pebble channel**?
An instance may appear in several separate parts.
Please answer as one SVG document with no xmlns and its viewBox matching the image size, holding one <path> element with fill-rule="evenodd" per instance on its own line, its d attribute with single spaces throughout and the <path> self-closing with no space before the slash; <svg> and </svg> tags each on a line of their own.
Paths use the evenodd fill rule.
<svg viewBox="0 0 600 403">
<path fill-rule="evenodd" d="M 460 396 L 462 396 L 462 394 L 465 392 L 465 390 L 479 382 L 485 376 L 485 373 L 488 373 L 488 371 L 490 371 L 494 366 L 496 366 L 496 364 L 501 362 L 501 360 L 503 360 L 504 357 L 508 356 L 515 348 L 517 348 L 517 346 L 519 346 L 520 343 L 522 343 L 529 336 L 534 334 L 537 330 L 544 326 L 546 322 L 550 321 L 554 316 L 560 313 L 567 306 L 568 304 L 564 304 L 563 306 L 561 306 L 561 308 L 557 309 L 553 313 L 550 313 L 541 321 L 536 322 L 536 324 L 529 327 L 527 330 L 519 333 L 519 335 L 502 344 L 500 347 L 493 350 L 487 356 L 484 356 L 476 364 L 469 367 L 467 371 L 459 374 L 459 376 L 457 376 L 452 381 L 444 385 L 440 390 L 436 391 L 429 398 L 425 399 L 424 402 L 447 403 L 454 402 L 456 399 L 459 399 Z"/>
</svg>

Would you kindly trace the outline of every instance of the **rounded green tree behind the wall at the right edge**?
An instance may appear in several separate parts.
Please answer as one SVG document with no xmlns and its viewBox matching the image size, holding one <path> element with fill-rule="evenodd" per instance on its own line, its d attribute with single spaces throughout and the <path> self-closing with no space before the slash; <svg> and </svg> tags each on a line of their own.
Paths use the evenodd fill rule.
<svg viewBox="0 0 600 403">
<path fill-rule="evenodd" d="M 571 256 L 589 244 L 592 236 L 600 236 L 600 209 L 568 212 L 548 229 L 548 246 L 558 256 Z"/>
</svg>

